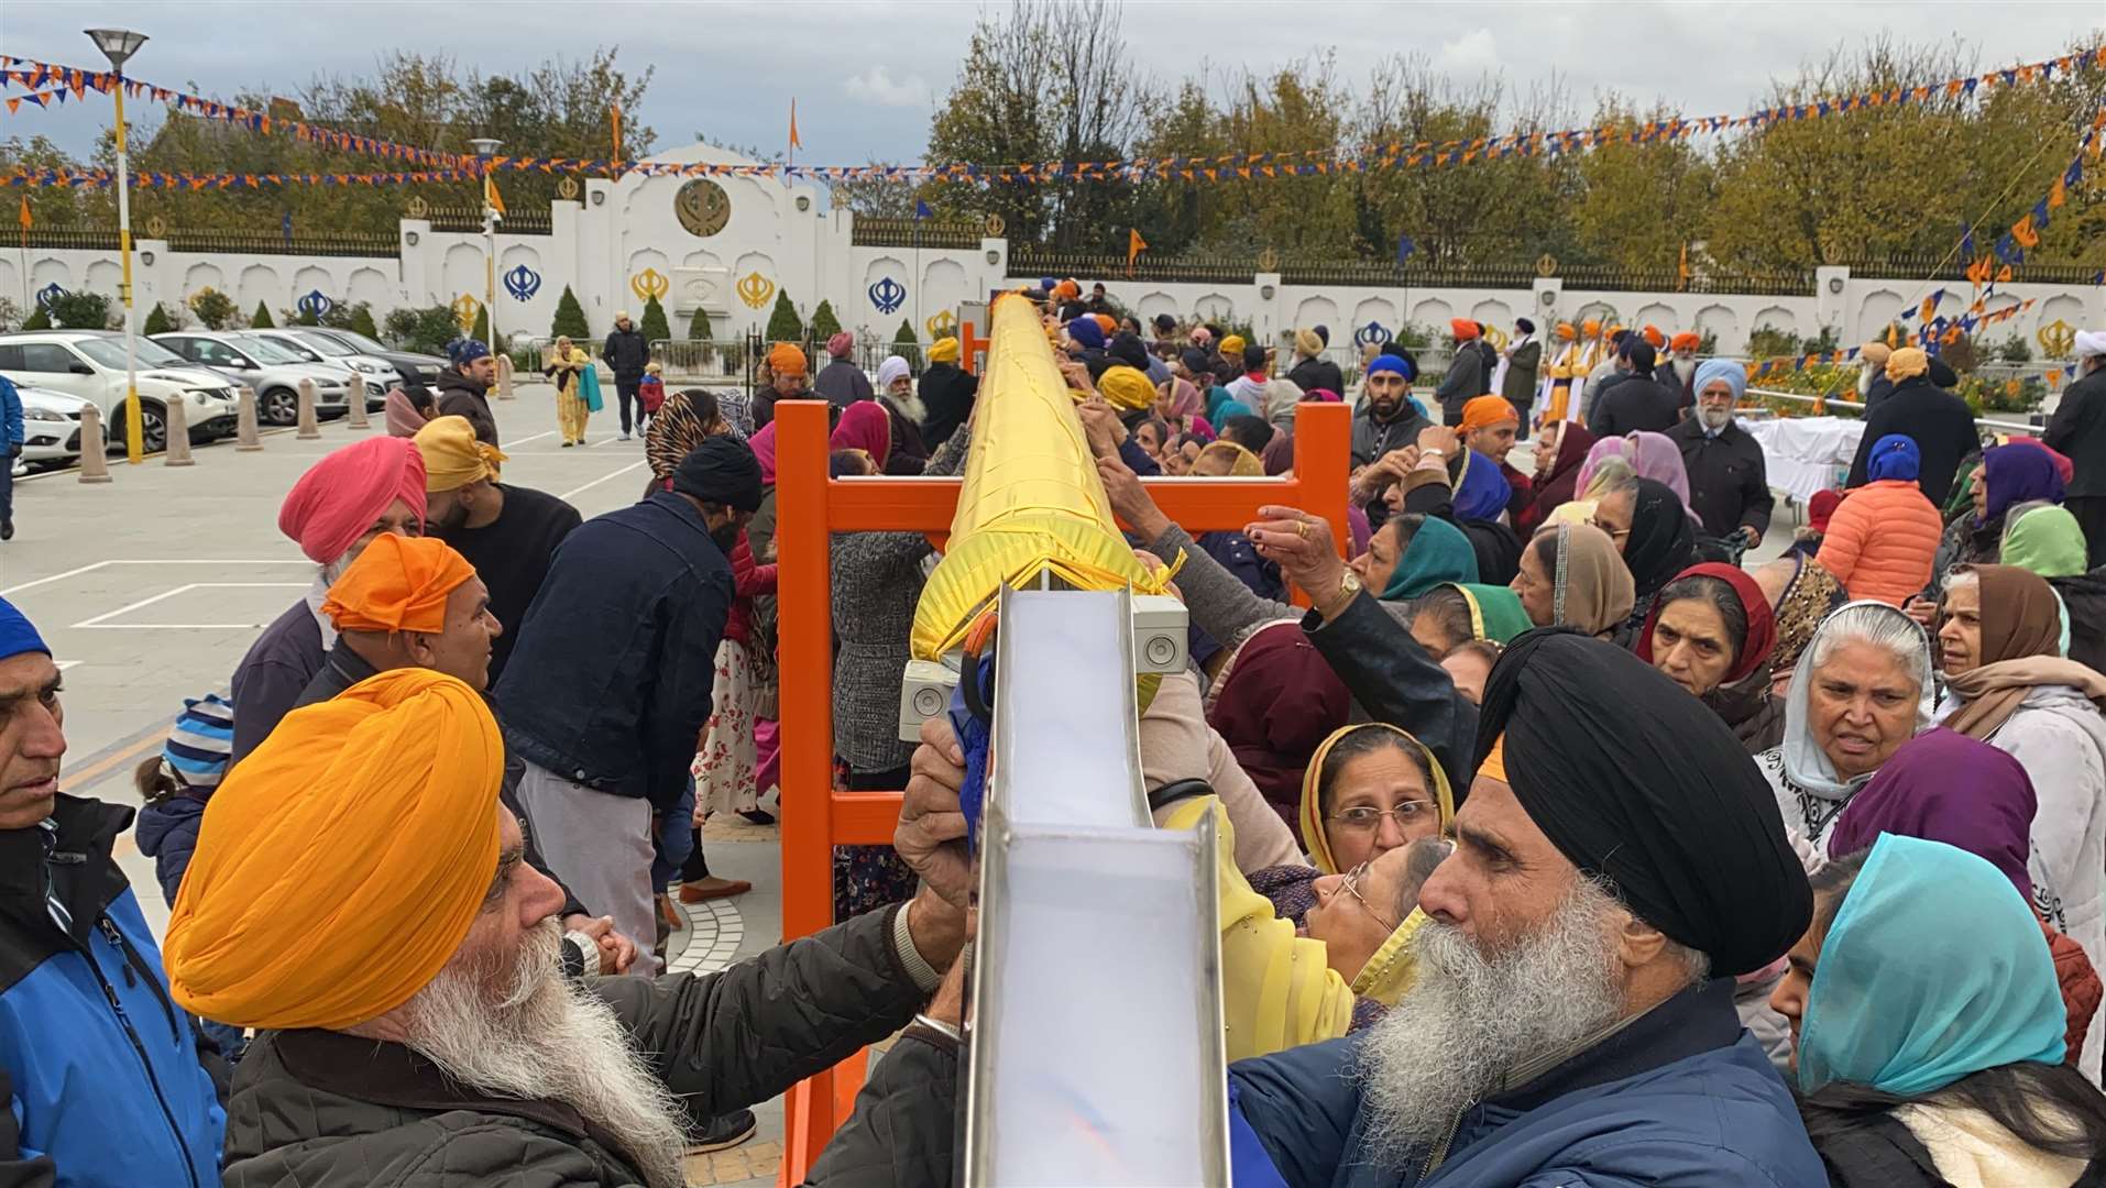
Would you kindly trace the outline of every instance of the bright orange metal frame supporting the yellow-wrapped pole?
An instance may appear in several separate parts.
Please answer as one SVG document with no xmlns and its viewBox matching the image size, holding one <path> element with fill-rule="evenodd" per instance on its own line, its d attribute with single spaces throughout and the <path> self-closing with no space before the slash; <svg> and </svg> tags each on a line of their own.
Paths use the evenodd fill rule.
<svg viewBox="0 0 2106 1188">
<path fill-rule="evenodd" d="M 971 329 L 967 329 L 971 335 Z M 967 356 L 971 358 L 971 356 Z M 1352 411 L 1302 404 L 1293 478 L 1146 480 L 1163 514 L 1192 533 L 1240 531 L 1257 508 L 1287 503 L 1331 520 L 1344 552 Z M 775 560 L 781 636 L 781 880 L 783 939 L 834 923 L 834 847 L 891 845 L 899 792 L 836 792 L 832 533 L 950 531 L 958 478 L 828 478 L 828 409 L 775 407 Z M 800 1184 L 855 1106 L 863 1053 L 790 1089 L 783 1102 L 781 1184 Z"/>
</svg>

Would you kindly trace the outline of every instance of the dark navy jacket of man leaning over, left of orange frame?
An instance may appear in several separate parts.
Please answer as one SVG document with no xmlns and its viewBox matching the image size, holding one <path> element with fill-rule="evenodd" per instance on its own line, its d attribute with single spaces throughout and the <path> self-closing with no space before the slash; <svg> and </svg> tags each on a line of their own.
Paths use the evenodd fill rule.
<svg viewBox="0 0 2106 1188">
<path fill-rule="evenodd" d="M 710 720 L 731 562 L 701 512 L 655 491 L 556 546 L 497 680 L 520 758 L 670 811 Z"/>
</svg>

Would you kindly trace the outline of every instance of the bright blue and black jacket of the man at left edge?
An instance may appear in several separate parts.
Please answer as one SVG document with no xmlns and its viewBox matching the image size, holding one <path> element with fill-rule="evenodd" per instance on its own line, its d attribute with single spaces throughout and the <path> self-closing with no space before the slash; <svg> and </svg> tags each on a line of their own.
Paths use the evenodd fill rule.
<svg viewBox="0 0 2106 1188">
<path fill-rule="evenodd" d="M 61 794 L 44 826 L 0 832 L 0 1184 L 219 1184 L 227 1114 L 110 857 L 126 826 Z"/>
</svg>

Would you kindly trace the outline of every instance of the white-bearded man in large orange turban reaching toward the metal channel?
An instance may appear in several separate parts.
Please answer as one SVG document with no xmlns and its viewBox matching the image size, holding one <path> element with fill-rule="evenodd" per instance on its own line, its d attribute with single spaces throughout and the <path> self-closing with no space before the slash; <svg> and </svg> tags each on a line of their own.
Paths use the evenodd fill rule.
<svg viewBox="0 0 2106 1188">
<path fill-rule="evenodd" d="M 676 1188 L 689 1116 L 901 1028 L 908 1064 L 954 1043 L 910 1026 L 939 984 L 958 994 L 939 971 L 971 885 L 962 824 L 929 796 L 895 834 L 922 878 L 910 904 L 722 973 L 571 982 L 562 893 L 499 805 L 503 744 L 474 689 L 396 670 L 284 727 L 213 794 L 168 923 L 175 1001 L 263 1030 L 227 1182 Z"/>
</svg>

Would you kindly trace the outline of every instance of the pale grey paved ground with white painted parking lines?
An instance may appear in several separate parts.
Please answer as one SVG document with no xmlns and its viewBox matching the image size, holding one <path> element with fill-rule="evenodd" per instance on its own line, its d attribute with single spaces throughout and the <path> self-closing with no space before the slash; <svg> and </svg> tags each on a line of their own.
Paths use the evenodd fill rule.
<svg viewBox="0 0 2106 1188">
<path fill-rule="evenodd" d="M 495 413 L 510 455 L 505 480 L 562 495 L 585 516 L 642 491 L 642 442 L 617 440 L 615 413 L 594 417 L 583 449 L 558 444 L 548 385 L 520 388 Z M 137 805 L 131 769 L 160 748 L 183 697 L 225 693 L 255 634 L 314 579 L 314 565 L 278 533 L 284 491 L 320 455 L 377 432 L 375 415 L 371 430 L 326 423 L 322 440 L 270 432 L 261 453 L 236 453 L 232 442 L 204 447 L 192 468 L 118 461 L 110 484 L 80 484 L 74 472 L 15 482 L 19 533 L 0 546 L 0 594 L 38 623 L 65 668 L 69 792 Z M 1516 466 L 1529 466 L 1525 453 Z M 1759 556 L 1775 556 L 1790 524 L 1780 503 Z M 712 872 L 748 878 L 754 891 L 689 908 L 687 929 L 672 942 L 676 969 L 722 969 L 779 942 L 775 843 L 775 828 L 712 821 Z M 152 859 L 131 836 L 120 838 L 118 857 L 147 918 L 164 927 Z M 693 1159 L 693 1184 L 773 1184 L 781 1106 L 771 1102 L 756 1114 L 754 1142 Z"/>
</svg>

